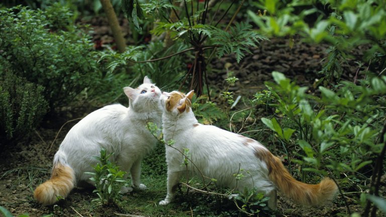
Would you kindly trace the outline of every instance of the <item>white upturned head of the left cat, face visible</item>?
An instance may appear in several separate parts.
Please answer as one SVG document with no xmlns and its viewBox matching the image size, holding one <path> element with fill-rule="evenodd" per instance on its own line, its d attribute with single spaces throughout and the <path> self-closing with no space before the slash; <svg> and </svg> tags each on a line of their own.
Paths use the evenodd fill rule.
<svg viewBox="0 0 386 217">
<path fill-rule="evenodd" d="M 130 99 L 130 107 L 137 112 L 153 112 L 159 110 L 159 97 L 161 90 L 147 77 L 143 79 L 143 84 L 133 89 L 123 88 L 125 94 Z"/>
</svg>

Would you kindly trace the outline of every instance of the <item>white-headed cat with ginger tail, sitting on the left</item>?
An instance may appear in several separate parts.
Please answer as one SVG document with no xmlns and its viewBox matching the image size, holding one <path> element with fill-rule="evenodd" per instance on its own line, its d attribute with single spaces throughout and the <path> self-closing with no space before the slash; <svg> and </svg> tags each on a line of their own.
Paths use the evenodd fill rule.
<svg viewBox="0 0 386 217">
<path fill-rule="evenodd" d="M 51 178 L 39 185 L 35 199 L 49 205 L 57 196 L 66 197 L 75 185 L 85 181 L 90 184 L 93 166 L 99 163 L 101 149 L 115 153 L 110 159 L 117 162 L 122 171 L 130 172 L 134 188 L 146 189 L 140 183 L 141 161 L 157 143 L 147 129 L 147 122 L 161 123 L 162 110 L 159 104 L 161 91 L 145 76 L 138 88 L 125 87 L 130 105 L 107 105 L 96 110 L 68 132 L 54 156 Z M 121 193 L 132 191 L 123 187 Z"/>
</svg>

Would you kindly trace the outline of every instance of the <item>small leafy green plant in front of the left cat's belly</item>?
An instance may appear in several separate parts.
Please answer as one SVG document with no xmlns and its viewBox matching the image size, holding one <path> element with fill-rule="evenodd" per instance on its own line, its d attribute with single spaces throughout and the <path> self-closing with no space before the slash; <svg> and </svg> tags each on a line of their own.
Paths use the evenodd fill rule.
<svg viewBox="0 0 386 217">
<path fill-rule="evenodd" d="M 96 157 L 101 163 L 94 166 L 95 172 L 86 172 L 92 175 L 90 178 L 94 182 L 96 189 L 93 191 L 98 194 L 99 198 L 95 199 L 101 201 L 104 205 L 111 205 L 120 198 L 121 187 L 127 185 L 124 180 L 126 172 L 119 170 L 119 167 L 109 160 L 114 153 L 107 154 L 105 149 L 101 150 L 101 156 Z"/>
</svg>

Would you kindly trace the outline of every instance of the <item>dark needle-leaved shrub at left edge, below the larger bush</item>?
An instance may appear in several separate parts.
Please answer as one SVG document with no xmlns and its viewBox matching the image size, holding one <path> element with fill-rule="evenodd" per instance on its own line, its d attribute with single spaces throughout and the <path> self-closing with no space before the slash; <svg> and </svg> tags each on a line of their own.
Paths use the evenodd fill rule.
<svg viewBox="0 0 386 217">
<path fill-rule="evenodd" d="M 47 112 L 44 88 L 7 70 L 0 77 L 0 139 L 28 138 Z"/>
</svg>

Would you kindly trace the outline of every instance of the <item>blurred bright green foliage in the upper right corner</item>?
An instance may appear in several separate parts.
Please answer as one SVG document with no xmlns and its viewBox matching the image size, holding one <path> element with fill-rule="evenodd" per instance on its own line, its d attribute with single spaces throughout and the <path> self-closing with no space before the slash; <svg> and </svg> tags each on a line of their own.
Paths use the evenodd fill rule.
<svg viewBox="0 0 386 217">
<path fill-rule="evenodd" d="M 380 71 L 386 64 L 386 10 L 383 1 L 288 1 L 283 4 L 264 0 L 253 4 L 267 12 L 266 16 L 259 16 L 248 11 L 261 34 L 300 35 L 307 42 L 331 45 L 326 50 L 328 57 L 321 70 L 324 75 L 321 81 L 325 86 L 340 80 L 342 65 L 355 55 L 355 49 L 364 50 L 355 62 L 359 69 L 366 63 L 370 70 Z M 307 22 L 310 16 L 315 17 L 314 22 Z"/>
</svg>

